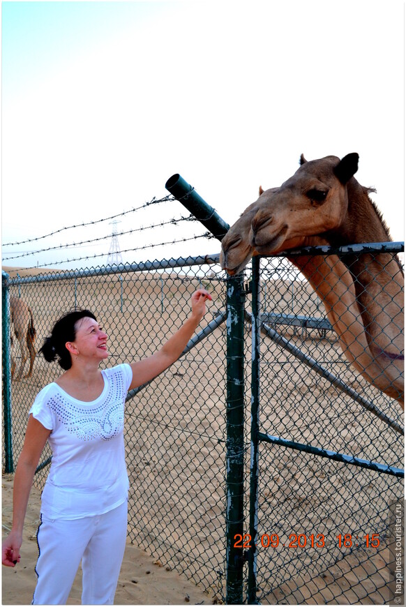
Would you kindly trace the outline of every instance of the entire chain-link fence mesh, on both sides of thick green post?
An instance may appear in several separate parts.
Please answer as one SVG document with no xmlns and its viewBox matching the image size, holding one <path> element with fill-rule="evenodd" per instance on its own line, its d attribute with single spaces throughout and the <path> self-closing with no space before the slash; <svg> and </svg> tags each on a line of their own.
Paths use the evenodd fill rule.
<svg viewBox="0 0 406 607">
<path fill-rule="evenodd" d="M 120 271 L 49 273 L 22 278 L 20 283 L 13 280 L 9 292 L 31 308 L 37 350 L 62 313 L 75 306 L 90 308 L 109 336 L 108 365 L 112 366 L 154 352 L 186 318 L 193 291 L 200 286 L 209 289 L 213 304 L 197 332 L 212 324 L 202 340 L 128 398 L 128 537 L 199 583 L 211 599 L 225 601 L 227 323 L 223 321 L 228 279 L 213 271 L 218 268 L 213 266 L 216 261 L 212 257 L 189 263 L 139 264 Z M 255 580 L 250 585 L 250 405 L 255 378 L 251 380 L 250 340 L 254 304 L 246 276 L 241 292 L 247 313 L 241 520 L 244 600 L 389 602 L 394 579 L 391 506 L 403 496 L 402 479 L 356 467 L 353 462 L 319 457 L 315 451 L 372 460 L 393 470 L 402 467 L 400 407 L 343 357 L 324 306 L 301 273 L 283 258 L 261 263 L 260 430 L 273 442 L 263 437 L 258 445 L 258 492 L 253 500 L 257 547 Z M 279 337 L 300 350 L 301 356 L 280 347 Z M 17 340 L 10 353 L 18 367 Z M 313 363 L 313 368 L 309 366 L 310 359 L 328 373 L 317 372 Z M 28 370 L 27 361 L 24 373 Z M 58 374 L 56 364 L 49 365 L 37 355 L 31 377 L 14 377 L 11 383 L 14 463 L 22 449 L 31 403 Z M 297 444 L 313 451 L 297 449 Z M 44 451 L 43 467 L 36 474 L 39 488 L 45 482 L 49 458 L 50 452 Z"/>
</svg>

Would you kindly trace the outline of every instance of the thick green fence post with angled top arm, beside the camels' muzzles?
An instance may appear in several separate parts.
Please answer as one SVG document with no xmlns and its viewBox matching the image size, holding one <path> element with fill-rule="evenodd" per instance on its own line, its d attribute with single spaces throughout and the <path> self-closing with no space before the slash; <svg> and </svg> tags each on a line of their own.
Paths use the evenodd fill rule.
<svg viewBox="0 0 406 607">
<path fill-rule="evenodd" d="M 230 225 L 218 216 L 179 174 L 165 188 L 218 240 Z M 227 278 L 227 504 L 226 504 L 226 603 L 243 603 L 243 551 L 236 548 L 243 536 L 244 472 L 244 301 L 243 275 Z"/>
</svg>

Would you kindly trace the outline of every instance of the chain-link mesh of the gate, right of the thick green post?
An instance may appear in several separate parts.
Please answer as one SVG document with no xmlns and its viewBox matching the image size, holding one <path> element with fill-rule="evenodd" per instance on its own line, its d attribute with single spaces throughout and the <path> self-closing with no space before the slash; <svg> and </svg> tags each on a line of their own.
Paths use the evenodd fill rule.
<svg viewBox="0 0 406 607">
<path fill-rule="evenodd" d="M 261 317 L 294 349 L 262 336 L 260 431 L 403 467 L 403 433 L 306 364 L 315 361 L 403 428 L 400 405 L 350 366 L 315 291 L 280 261 L 261 261 Z M 257 601 L 393 600 L 391 504 L 403 500 L 403 479 L 268 442 L 259 444 L 259 464 Z"/>
</svg>

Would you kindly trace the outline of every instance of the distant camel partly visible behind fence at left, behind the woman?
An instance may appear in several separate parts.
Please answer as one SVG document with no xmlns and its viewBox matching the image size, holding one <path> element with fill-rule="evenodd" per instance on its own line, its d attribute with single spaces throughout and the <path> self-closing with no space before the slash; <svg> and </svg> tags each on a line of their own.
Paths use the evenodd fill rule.
<svg viewBox="0 0 406 607">
<path fill-rule="evenodd" d="M 15 381 L 19 381 L 24 371 L 25 363 L 29 357 L 29 372 L 24 377 L 30 377 L 33 369 L 33 362 L 36 357 L 34 342 L 36 340 L 36 330 L 33 326 L 33 314 L 31 308 L 25 301 L 17 297 L 10 297 L 10 317 L 13 323 L 14 334 L 20 343 L 21 364 Z M 10 335 L 11 345 L 13 345 L 13 336 Z M 11 354 L 11 377 L 13 379 L 16 363 Z"/>
</svg>

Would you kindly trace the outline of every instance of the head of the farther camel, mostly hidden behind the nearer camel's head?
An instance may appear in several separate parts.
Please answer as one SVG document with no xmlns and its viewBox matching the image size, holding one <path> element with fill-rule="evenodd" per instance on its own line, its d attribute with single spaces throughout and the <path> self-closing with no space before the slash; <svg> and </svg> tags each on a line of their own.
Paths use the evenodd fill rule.
<svg viewBox="0 0 406 607">
<path fill-rule="evenodd" d="M 255 213 L 257 213 L 262 201 L 266 202 L 269 197 L 276 192 L 278 188 L 271 188 L 269 190 L 262 190 L 260 186 L 260 197 L 258 200 L 250 204 L 245 211 L 241 214 L 240 218 L 236 220 L 236 223 L 230 227 L 227 234 L 221 241 L 220 251 L 220 266 L 223 270 L 226 270 L 230 276 L 238 274 L 253 255 L 257 255 L 253 246 L 250 245 L 248 235 L 250 232 L 251 221 L 253 220 Z"/>
</svg>

